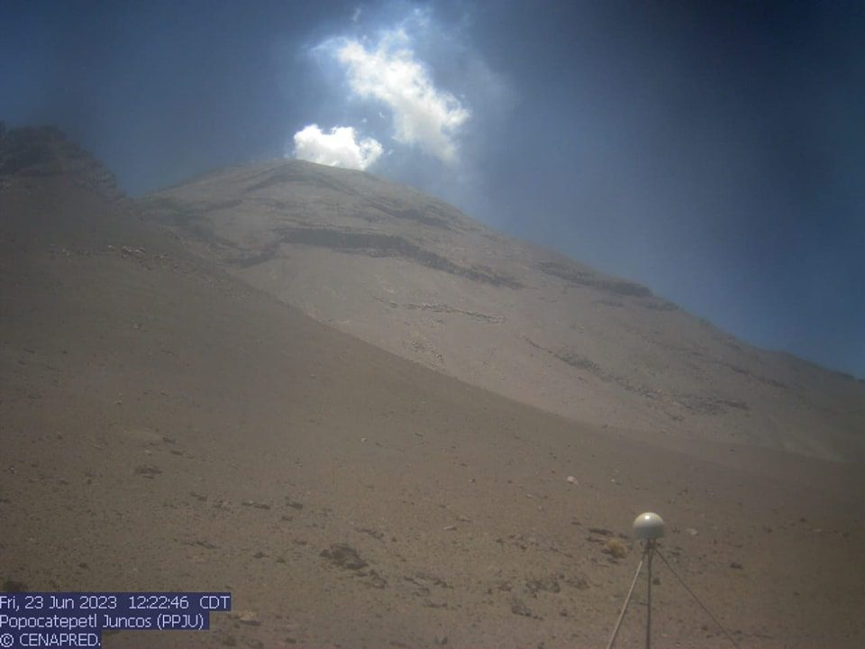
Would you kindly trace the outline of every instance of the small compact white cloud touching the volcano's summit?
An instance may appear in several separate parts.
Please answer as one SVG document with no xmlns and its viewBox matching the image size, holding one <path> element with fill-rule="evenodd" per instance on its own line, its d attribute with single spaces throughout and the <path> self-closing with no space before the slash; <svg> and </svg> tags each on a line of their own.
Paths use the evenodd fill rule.
<svg viewBox="0 0 865 649">
<path fill-rule="evenodd" d="M 359 140 L 351 126 L 334 126 L 330 133 L 323 133 L 318 124 L 310 124 L 295 133 L 295 158 L 331 167 L 367 169 L 382 151 L 378 140 Z"/>
</svg>

